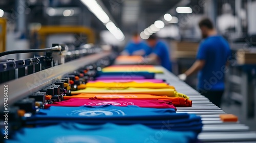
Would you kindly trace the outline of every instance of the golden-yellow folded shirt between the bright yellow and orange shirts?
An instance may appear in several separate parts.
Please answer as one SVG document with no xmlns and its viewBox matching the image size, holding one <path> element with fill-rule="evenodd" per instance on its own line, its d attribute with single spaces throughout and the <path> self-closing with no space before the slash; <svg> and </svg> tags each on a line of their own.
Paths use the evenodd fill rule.
<svg viewBox="0 0 256 143">
<path fill-rule="evenodd" d="M 156 96 L 167 96 L 167 97 L 182 97 L 189 99 L 185 94 L 177 92 L 173 88 L 96 88 L 96 87 L 87 87 L 86 89 L 81 89 L 77 91 L 72 91 L 71 94 L 80 94 L 80 93 L 105 93 L 105 94 L 153 94 Z"/>
</svg>

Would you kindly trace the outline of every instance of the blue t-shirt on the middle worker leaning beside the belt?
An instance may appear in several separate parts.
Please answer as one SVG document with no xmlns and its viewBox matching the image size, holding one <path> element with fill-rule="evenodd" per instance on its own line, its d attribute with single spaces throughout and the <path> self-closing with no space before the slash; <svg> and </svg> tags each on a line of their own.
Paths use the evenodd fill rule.
<svg viewBox="0 0 256 143">
<path fill-rule="evenodd" d="M 156 46 L 153 48 L 153 53 L 155 53 L 160 59 L 161 66 L 172 71 L 172 64 L 170 63 L 169 49 L 168 46 L 162 42 L 157 41 Z"/>
</svg>

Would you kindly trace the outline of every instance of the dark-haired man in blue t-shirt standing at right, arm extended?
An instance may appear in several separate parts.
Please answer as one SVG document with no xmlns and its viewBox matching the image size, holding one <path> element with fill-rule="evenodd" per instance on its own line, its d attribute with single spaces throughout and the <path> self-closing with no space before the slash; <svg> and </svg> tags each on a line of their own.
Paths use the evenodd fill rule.
<svg viewBox="0 0 256 143">
<path fill-rule="evenodd" d="M 205 38 L 199 45 L 196 62 L 184 73 L 179 75 L 181 80 L 198 74 L 198 91 L 218 107 L 224 92 L 224 73 L 226 64 L 231 58 L 228 42 L 217 35 L 212 22 L 202 19 L 199 22 L 202 37 Z"/>
</svg>

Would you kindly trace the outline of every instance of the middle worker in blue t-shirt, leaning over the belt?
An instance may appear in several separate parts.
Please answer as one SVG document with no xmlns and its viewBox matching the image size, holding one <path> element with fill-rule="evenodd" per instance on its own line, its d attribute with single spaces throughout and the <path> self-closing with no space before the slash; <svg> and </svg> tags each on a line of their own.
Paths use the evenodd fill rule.
<svg viewBox="0 0 256 143">
<path fill-rule="evenodd" d="M 172 71 L 172 64 L 170 63 L 169 49 L 168 46 L 158 40 L 155 34 L 151 35 L 147 39 L 148 46 L 152 49 L 152 54 L 145 58 L 147 62 L 158 61 L 161 66 L 165 67 L 169 71 Z"/>
</svg>

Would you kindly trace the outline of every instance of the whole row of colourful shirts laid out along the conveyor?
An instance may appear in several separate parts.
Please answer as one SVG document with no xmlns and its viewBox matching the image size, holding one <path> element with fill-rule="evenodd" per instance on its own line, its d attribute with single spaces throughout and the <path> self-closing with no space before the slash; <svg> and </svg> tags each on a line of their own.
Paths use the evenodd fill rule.
<svg viewBox="0 0 256 143">
<path fill-rule="evenodd" d="M 191 107 L 192 101 L 164 80 L 154 79 L 155 73 L 162 70 L 151 65 L 103 68 L 95 81 L 79 85 L 72 96 L 63 97 L 65 101 L 27 117 L 26 124 L 37 127 L 18 133 L 16 142 L 44 136 L 44 142 L 196 142 L 201 117 L 176 113 L 175 108 Z M 45 125 L 51 126 L 38 127 Z M 37 131 L 49 135 L 25 141 L 23 132 L 31 136 Z"/>
</svg>

